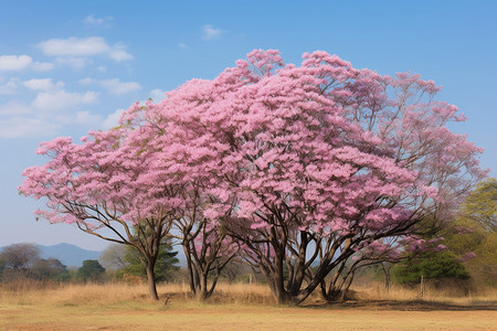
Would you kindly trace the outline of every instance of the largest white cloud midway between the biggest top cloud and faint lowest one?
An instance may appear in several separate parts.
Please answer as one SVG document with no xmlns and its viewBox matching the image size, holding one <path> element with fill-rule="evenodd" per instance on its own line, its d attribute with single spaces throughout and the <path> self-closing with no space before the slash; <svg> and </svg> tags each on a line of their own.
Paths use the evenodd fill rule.
<svg viewBox="0 0 497 331">
<path fill-rule="evenodd" d="M 31 105 L 39 109 L 56 110 L 74 108 L 80 105 L 95 104 L 97 102 L 98 95 L 93 90 L 82 94 L 68 93 L 61 89 L 53 93 L 40 92 Z"/>
</svg>

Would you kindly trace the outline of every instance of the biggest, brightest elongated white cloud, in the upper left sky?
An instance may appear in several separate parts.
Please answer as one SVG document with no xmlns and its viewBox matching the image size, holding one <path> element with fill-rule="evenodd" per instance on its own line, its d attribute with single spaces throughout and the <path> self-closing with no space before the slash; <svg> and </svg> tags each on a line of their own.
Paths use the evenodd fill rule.
<svg viewBox="0 0 497 331">
<path fill-rule="evenodd" d="M 52 56 L 93 56 L 107 55 L 114 61 L 131 60 L 133 55 L 127 53 L 121 43 L 109 46 L 102 36 L 51 39 L 39 44 L 46 55 Z"/>
</svg>

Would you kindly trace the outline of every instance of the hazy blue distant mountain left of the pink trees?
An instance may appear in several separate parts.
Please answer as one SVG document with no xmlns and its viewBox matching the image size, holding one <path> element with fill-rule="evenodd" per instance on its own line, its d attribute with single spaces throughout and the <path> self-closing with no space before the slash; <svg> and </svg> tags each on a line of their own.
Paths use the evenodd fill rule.
<svg viewBox="0 0 497 331">
<path fill-rule="evenodd" d="M 53 257 L 62 261 L 63 265 L 81 267 L 85 259 L 98 259 L 102 252 L 83 249 L 71 244 L 57 244 L 53 246 L 36 245 L 40 248 L 40 257 Z"/>
</svg>

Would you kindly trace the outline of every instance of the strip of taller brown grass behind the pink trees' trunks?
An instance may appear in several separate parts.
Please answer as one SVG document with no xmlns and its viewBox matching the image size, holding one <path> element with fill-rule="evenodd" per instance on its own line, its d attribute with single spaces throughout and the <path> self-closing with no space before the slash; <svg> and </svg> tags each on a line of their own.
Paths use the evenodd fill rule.
<svg viewBox="0 0 497 331">
<path fill-rule="evenodd" d="M 160 284 L 158 292 L 161 299 L 192 301 L 187 284 Z M 0 284 L 0 302 L 35 305 L 43 301 L 50 305 L 112 305 L 124 301 L 148 301 L 147 287 L 144 284 L 105 282 L 105 284 L 56 284 L 52 281 L 20 281 Z M 462 295 L 456 288 L 435 289 L 427 287 L 422 297 L 417 288 L 392 286 L 389 291 L 381 284 L 356 286 L 353 300 L 358 301 L 426 301 L 447 305 L 497 305 L 497 289 L 482 288 Z M 263 284 L 219 284 L 214 295 L 207 301 L 216 305 L 275 305 L 267 286 Z M 319 291 L 305 303 L 324 303 Z"/>
</svg>

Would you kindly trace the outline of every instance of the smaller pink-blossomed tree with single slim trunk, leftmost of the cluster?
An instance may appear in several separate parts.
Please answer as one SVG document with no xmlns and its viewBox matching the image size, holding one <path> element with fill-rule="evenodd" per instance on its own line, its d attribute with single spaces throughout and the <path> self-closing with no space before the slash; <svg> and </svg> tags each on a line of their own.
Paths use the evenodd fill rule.
<svg viewBox="0 0 497 331">
<path fill-rule="evenodd" d="M 154 151 L 135 143 L 139 135 L 123 125 L 89 132 L 82 145 L 72 138 L 42 142 L 36 153 L 50 161 L 24 170 L 19 191 L 47 199 L 47 210 L 35 214 L 51 223 L 76 224 L 85 233 L 136 247 L 146 265 L 150 298 L 157 300 L 154 266 L 181 200 L 176 196 L 179 183 L 168 182 Z"/>
</svg>

